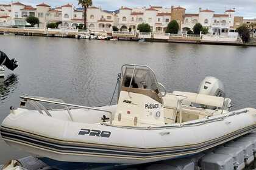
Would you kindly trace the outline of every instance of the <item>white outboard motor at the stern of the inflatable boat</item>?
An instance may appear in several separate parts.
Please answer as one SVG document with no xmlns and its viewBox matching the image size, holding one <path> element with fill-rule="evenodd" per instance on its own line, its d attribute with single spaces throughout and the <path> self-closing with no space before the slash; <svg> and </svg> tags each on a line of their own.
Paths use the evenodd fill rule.
<svg viewBox="0 0 256 170">
<path fill-rule="evenodd" d="M 224 85 L 215 77 L 205 77 L 199 85 L 199 94 L 225 97 Z"/>
</svg>

